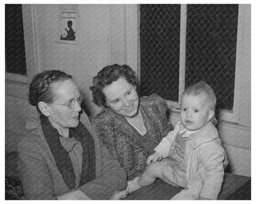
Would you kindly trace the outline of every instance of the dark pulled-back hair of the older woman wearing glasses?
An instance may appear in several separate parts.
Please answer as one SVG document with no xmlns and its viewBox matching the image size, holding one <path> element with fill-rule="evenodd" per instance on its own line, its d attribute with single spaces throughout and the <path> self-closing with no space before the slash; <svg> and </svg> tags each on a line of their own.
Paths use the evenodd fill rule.
<svg viewBox="0 0 256 204">
<path fill-rule="evenodd" d="M 35 106 L 39 113 L 41 111 L 38 108 L 39 102 L 45 102 L 50 104 L 54 101 L 54 83 L 73 80 L 71 75 L 66 74 L 60 70 L 45 70 L 39 74 L 36 74 L 30 83 L 30 92 L 28 94 L 28 102 Z"/>
</svg>

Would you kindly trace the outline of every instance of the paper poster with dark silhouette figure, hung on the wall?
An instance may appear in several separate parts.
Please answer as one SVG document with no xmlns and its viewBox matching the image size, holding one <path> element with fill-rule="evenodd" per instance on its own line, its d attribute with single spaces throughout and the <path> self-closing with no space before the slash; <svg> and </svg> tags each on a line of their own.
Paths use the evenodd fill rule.
<svg viewBox="0 0 256 204">
<path fill-rule="evenodd" d="M 79 45 L 79 5 L 58 6 L 58 34 L 55 42 Z"/>
</svg>

